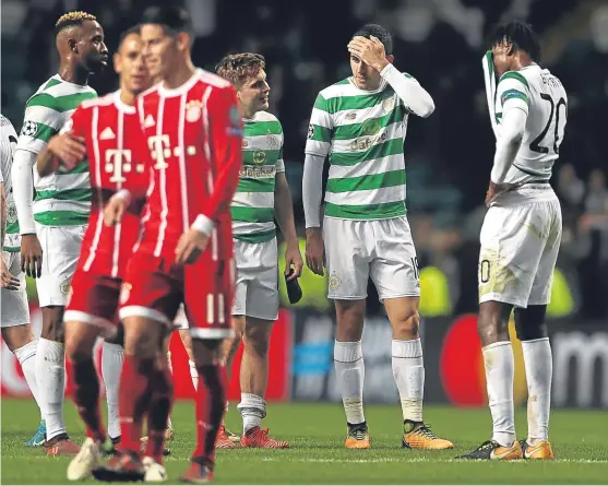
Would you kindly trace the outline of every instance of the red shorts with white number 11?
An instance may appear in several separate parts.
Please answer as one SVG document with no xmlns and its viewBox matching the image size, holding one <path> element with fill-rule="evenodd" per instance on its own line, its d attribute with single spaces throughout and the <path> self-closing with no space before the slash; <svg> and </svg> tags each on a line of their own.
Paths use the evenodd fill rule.
<svg viewBox="0 0 608 486">
<path fill-rule="evenodd" d="M 213 261 L 208 251 L 190 265 L 177 265 L 174 258 L 141 252 L 131 257 L 120 294 L 120 319 L 145 317 L 171 327 L 183 303 L 192 337 L 231 336 L 233 261 Z"/>
</svg>

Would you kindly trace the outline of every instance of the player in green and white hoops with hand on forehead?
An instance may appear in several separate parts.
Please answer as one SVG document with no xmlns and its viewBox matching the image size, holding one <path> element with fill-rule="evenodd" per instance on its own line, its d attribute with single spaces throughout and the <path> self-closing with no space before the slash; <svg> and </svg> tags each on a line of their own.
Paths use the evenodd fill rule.
<svg viewBox="0 0 608 486">
<path fill-rule="evenodd" d="M 336 307 L 336 377 L 350 449 L 370 448 L 363 415 L 361 334 L 371 276 L 393 328 L 393 376 L 401 396 L 403 447 L 448 449 L 422 422 L 425 368 L 418 334 L 420 284 L 405 216 L 404 140 L 408 115 L 428 117 L 430 95 L 393 66 L 391 34 L 368 24 L 348 44 L 353 76 L 319 93 L 308 130 L 302 181 L 308 266 L 330 274 Z M 330 156 L 325 217 L 320 205 Z"/>
</svg>

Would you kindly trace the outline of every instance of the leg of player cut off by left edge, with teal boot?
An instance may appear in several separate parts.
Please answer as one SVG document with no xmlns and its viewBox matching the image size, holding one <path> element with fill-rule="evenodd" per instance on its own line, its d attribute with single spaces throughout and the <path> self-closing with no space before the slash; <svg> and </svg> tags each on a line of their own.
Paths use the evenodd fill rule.
<svg viewBox="0 0 608 486">
<path fill-rule="evenodd" d="M 25 446 L 36 447 L 45 442 L 46 424 L 44 414 L 44 402 L 40 400 L 38 383 L 36 381 L 36 351 L 38 341 L 32 332 L 29 323 L 29 307 L 27 305 L 27 293 L 25 291 L 25 274 L 21 271 L 19 253 L 3 252 L 4 261 L 9 271 L 20 280 L 19 291 L 0 289 L 1 328 L 2 340 L 17 358 L 25 381 L 34 395 L 36 404 L 40 408 L 40 423 L 34 436 L 24 442 Z"/>
</svg>

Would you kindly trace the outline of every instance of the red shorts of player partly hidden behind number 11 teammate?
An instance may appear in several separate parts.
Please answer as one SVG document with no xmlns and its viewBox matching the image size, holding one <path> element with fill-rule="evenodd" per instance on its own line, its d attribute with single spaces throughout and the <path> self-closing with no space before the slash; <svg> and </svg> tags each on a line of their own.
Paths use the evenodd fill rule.
<svg viewBox="0 0 608 486">
<path fill-rule="evenodd" d="M 121 283 L 121 278 L 76 271 L 63 320 L 96 325 L 102 329 L 103 336 L 111 337 L 118 329 Z"/>
</svg>

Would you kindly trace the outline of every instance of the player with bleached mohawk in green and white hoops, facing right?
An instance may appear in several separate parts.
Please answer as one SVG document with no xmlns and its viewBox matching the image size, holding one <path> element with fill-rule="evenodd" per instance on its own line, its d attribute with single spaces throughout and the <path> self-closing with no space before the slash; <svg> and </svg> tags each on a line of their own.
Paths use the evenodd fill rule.
<svg viewBox="0 0 608 486">
<path fill-rule="evenodd" d="M 63 423 L 63 309 L 91 209 L 88 171 L 40 177 L 33 165 L 83 100 L 96 97 L 88 76 L 107 63 L 104 29 L 95 16 L 70 12 L 56 24 L 59 72 L 46 81 L 25 106 L 13 170 L 13 194 L 19 216 L 22 270 L 37 278 L 43 308 L 36 377 L 46 411 L 47 452 L 73 454 Z M 36 189 L 36 198 L 32 194 Z M 43 256 L 43 248 L 45 254 Z"/>
</svg>

